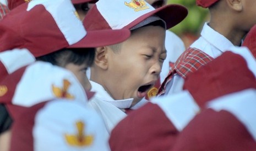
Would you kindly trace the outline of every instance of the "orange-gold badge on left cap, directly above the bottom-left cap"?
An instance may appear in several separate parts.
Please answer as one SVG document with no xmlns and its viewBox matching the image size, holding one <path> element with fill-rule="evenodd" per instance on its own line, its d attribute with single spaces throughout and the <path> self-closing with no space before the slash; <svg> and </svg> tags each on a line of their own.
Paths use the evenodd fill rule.
<svg viewBox="0 0 256 151">
<path fill-rule="evenodd" d="M 74 96 L 68 93 L 69 86 L 70 86 L 70 82 L 64 79 L 63 88 L 58 88 L 57 86 L 52 85 L 53 94 L 58 98 L 74 99 Z"/>
</svg>

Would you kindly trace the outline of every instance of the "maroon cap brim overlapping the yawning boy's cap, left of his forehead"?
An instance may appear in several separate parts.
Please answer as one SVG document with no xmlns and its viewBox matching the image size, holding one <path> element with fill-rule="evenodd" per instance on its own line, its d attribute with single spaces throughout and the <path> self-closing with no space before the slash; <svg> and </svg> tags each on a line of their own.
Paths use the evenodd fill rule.
<svg viewBox="0 0 256 151">
<path fill-rule="evenodd" d="M 128 39 L 130 31 L 122 30 L 99 30 L 87 31 L 86 36 L 78 43 L 70 45 L 68 48 L 94 48 L 121 43 Z"/>
</svg>

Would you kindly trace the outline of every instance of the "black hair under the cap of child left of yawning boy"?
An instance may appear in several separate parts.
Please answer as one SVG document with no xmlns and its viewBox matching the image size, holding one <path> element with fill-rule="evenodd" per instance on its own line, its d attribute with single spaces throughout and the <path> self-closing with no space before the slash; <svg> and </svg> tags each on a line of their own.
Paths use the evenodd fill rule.
<svg viewBox="0 0 256 151">
<path fill-rule="evenodd" d="M 52 65 L 65 67 L 68 63 L 82 65 L 86 63 L 89 67 L 93 64 L 95 57 L 94 48 L 64 48 L 54 53 L 37 57 L 36 60 L 50 62 Z"/>
</svg>

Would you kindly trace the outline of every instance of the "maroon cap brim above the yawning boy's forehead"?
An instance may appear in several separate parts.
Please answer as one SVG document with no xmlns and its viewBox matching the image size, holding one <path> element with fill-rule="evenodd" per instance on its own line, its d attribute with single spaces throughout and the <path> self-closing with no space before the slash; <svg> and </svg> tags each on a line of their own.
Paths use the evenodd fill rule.
<svg viewBox="0 0 256 151">
<path fill-rule="evenodd" d="M 165 5 L 164 7 L 160 7 L 158 9 L 155 9 L 153 11 L 150 11 L 149 13 L 140 16 L 138 19 L 131 22 L 125 28 L 130 29 L 152 15 L 157 15 L 162 20 L 164 20 L 166 22 L 166 28 L 169 29 L 179 24 L 179 22 L 186 18 L 186 16 L 188 15 L 188 10 L 186 7 L 183 7 L 182 5 L 178 4 Z"/>
</svg>

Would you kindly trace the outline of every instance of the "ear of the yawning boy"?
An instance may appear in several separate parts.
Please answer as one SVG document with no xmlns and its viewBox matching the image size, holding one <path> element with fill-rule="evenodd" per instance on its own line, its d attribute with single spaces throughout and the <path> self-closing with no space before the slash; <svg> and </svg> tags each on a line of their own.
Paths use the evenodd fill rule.
<svg viewBox="0 0 256 151">
<path fill-rule="evenodd" d="M 96 66 L 101 69 L 107 69 L 108 60 L 107 60 L 107 47 L 98 47 L 95 50 L 95 60 L 94 63 Z"/>
</svg>

